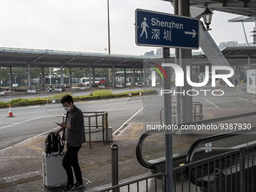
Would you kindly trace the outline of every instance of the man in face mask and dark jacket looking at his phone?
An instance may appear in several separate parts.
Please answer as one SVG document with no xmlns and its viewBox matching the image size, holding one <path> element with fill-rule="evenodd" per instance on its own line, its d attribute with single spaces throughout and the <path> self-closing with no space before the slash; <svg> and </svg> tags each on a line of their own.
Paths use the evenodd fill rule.
<svg viewBox="0 0 256 192">
<path fill-rule="evenodd" d="M 68 183 L 63 191 L 69 191 L 84 186 L 81 169 L 78 163 L 78 151 L 82 143 L 85 142 L 84 115 L 83 112 L 74 105 L 72 96 L 63 96 L 60 102 L 67 111 L 66 122 L 59 125 L 61 128 L 56 131 L 56 134 L 63 131 L 62 140 L 66 140 L 67 150 L 62 160 L 62 166 L 66 169 Z M 75 184 L 72 167 L 77 181 Z"/>
</svg>

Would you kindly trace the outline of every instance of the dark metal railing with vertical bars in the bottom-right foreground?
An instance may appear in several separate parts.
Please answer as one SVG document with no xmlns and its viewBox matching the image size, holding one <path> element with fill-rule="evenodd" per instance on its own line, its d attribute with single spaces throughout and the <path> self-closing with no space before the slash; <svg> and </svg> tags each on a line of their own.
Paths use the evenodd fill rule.
<svg viewBox="0 0 256 192">
<path fill-rule="evenodd" d="M 190 179 L 191 175 L 194 175 L 194 181 Z M 175 167 L 172 192 L 256 191 L 254 175 L 256 145 L 251 145 Z M 114 190 L 166 191 L 166 175 L 160 172 L 97 191 Z"/>
</svg>

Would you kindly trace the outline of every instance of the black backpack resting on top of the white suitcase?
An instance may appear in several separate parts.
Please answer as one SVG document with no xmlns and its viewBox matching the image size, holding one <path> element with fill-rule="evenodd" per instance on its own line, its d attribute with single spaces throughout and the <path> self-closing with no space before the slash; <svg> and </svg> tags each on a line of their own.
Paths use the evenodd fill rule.
<svg viewBox="0 0 256 192">
<path fill-rule="evenodd" d="M 63 149 L 64 145 L 59 134 L 55 136 L 55 133 L 49 133 L 45 139 L 45 153 L 48 155 L 54 152 L 59 152 L 59 155 L 61 155 Z"/>
</svg>

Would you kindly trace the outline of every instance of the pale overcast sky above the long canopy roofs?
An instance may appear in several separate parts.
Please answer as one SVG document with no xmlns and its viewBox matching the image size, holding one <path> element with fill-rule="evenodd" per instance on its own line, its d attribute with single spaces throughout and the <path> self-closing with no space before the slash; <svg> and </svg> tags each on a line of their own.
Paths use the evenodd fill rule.
<svg viewBox="0 0 256 192">
<path fill-rule="evenodd" d="M 105 53 L 108 48 L 107 0 L 1 0 L 0 47 L 70 50 Z M 173 14 L 160 0 L 109 0 L 111 53 L 143 55 L 157 47 L 135 43 L 135 10 L 142 8 Z M 210 34 L 215 42 L 245 43 L 242 23 L 228 23 L 239 15 L 216 12 Z M 245 23 L 252 41 L 254 23 Z M 108 50 L 107 50 L 108 53 Z"/>
</svg>

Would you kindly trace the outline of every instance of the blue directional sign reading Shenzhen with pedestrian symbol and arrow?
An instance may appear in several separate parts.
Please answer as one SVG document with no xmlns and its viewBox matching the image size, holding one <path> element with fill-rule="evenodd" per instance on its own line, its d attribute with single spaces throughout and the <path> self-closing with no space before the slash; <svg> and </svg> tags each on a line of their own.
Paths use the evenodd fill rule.
<svg viewBox="0 0 256 192">
<path fill-rule="evenodd" d="M 136 44 L 198 49 L 199 20 L 137 9 Z"/>
</svg>

